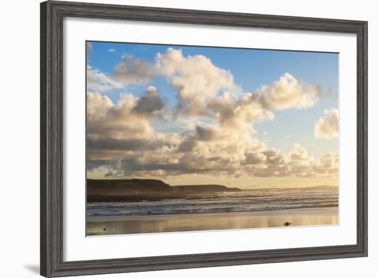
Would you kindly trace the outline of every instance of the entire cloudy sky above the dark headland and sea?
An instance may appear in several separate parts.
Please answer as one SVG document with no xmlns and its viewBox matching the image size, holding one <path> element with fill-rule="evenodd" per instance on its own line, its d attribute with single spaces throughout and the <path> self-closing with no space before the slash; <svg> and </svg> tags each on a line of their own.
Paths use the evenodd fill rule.
<svg viewBox="0 0 377 278">
<path fill-rule="evenodd" d="M 86 42 L 87 177 L 337 185 L 338 54 Z"/>
</svg>

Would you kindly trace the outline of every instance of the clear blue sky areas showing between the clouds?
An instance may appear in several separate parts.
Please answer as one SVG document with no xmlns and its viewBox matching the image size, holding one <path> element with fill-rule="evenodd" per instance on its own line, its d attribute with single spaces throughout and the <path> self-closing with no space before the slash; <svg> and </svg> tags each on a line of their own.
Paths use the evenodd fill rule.
<svg viewBox="0 0 377 278">
<path fill-rule="evenodd" d="M 87 61 L 91 68 L 113 75 L 115 67 L 124 55 L 132 55 L 138 60 L 156 62 L 157 53 L 167 53 L 169 48 L 180 49 L 184 58 L 204 55 L 217 68 L 229 71 L 234 77 L 234 84 L 241 91 L 253 94 L 262 86 L 271 86 L 285 73 L 293 75 L 297 81 L 310 86 L 319 86 L 319 99 L 315 105 L 305 109 L 274 110 L 273 121 L 256 121 L 253 127 L 261 142 L 289 153 L 292 144 L 300 143 L 309 156 L 318 159 L 324 153 L 337 153 L 338 139 L 319 139 L 314 136 L 314 126 L 325 110 L 338 109 L 339 55 L 337 53 L 319 53 L 305 51 L 278 51 L 263 49 L 235 49 L 218 47 L 190 47 L 177 45 L 148 45 L 134 43 L 90 42 Z M 138 84 L 127 84 L 122 88 L 110 88 L 101 91 L 116 105 L 121 93 L 128 92 L 136 99 L 145 94 L 149 86 L 157 88 L 165 101 L 166 108 L 173 108 L 178 103 L 177 89 L 169 79 L 156 76 Z M 202 119 L 206 122 L 205 119 Z M 179 123 L 167 123 L 158 120 L 149 121 L 155 131 L 184 131 L 177 127 Z"/>
</svg>

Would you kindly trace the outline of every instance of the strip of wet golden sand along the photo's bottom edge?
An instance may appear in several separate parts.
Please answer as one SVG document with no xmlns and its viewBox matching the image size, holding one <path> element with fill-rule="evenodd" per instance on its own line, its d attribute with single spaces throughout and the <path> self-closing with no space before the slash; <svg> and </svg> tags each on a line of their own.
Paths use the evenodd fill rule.
<svg viewBox="0 0 377 278">
<path fill-rule="evenodd" d="M 257 212 L 165 214 L 147 216 L 88 216 L 87 236 L 171 231 L 206 231 L 267 227 L 337 225 L 338 207 Z"/>
</svg>

